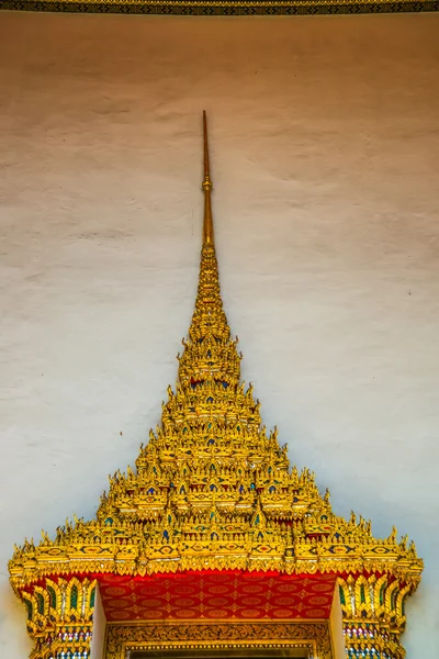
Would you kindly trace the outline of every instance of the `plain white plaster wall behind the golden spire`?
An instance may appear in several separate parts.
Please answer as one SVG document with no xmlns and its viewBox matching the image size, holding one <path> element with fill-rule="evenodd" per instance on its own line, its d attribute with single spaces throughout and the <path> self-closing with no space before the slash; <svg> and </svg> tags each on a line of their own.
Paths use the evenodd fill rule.
<svg viewBox="0 0 439 659">
<path fill-rule="evenodd" d="M 426 559 L 439 656 L 439 15 L 0 15 L 0 657 L 13 543 L 90 517 L 190 322 L 209 111 L 223 292 L 268 426 Z"/>
</svg>

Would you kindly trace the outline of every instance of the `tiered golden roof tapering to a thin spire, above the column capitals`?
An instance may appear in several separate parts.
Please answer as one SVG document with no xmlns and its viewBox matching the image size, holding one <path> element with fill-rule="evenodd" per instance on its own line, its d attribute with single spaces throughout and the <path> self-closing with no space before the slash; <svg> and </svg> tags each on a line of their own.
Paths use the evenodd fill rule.
<svg viewBox="0 0 439 659">
<path fill-rule="evenodd" d="M 204 153 L 195 309 L 161 424 L 140 447 L 136 471 L 128 468 L 110 479 L 95 520 L 67 522 L 54 540 L 44 534 L 40 545 L 26 541 L 16 548 L 11 582 L 20 593 L 56 574 L 145 576 L 206 568 L 336 572 L 344 578 L 347 619 L 364 606 L 376 618 L 381 606 L 382 615 L 394 623 L 397 617 L 401 630 L 403 603 L 398 612 L 396 602 L 392 610 L 380 588 L 393 584 L 394 590 L 398 583 L 404 595 L 416 588 L 423 562 L 414 544 L 398 541 L 395 530 L 375 539 L 369 522 L 335 515 L 314 476 L 290 469 L 286 447 L 280 447 L 277 431 L 261 424 L 259 401 L 240 380 L 241 355 L 219 292 L 205 115 Z M 367 595 L 354 590 L 359 574 L 365 574 Z"/>
</svg>

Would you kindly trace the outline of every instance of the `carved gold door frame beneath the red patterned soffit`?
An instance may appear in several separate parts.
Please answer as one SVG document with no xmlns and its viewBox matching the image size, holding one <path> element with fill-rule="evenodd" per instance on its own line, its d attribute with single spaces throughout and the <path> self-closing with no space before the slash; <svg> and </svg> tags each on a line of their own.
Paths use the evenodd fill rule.
<svg viewBox="0 0 439 659">
<path fill-rule="evenodd" d="M 327 622 L 179 622 L 109 625 L 105 659 L 125 659 L 127 650 L 306 648 L 312 658 L 331 659 Z"/>
</svg>

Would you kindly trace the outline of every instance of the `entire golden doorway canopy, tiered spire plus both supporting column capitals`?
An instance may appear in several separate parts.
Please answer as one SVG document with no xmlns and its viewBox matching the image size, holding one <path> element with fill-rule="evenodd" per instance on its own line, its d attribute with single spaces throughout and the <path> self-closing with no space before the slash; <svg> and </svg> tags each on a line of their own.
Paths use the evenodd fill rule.
<svg viewBox="0 0 439 659">
<path fill-rule="evenodd" d="M 196 590 L 203 576 L 221 573 L 233 576 L 234 588 L 249 576 L 320 584 L 320 600 L 338 588 L 347 656 L 402 659 L 405 602 L 423 561 L 395 528 L 379 539 L 362 517 L 336 515 L 328 491 L 319 493 L 308 469 L 291 469 L 277 429 L 262 425 L 252 387 L 240 380 L 238 339 L 221 295 L 205 113 L 203 136 L 200 277 L 177 384 L 136 469 L 110 478 L 95 518 L 75 517 L 54 538 L 43 532 L 40 543 L 15 547 L 9 571 L 27 612 L 31 659 L 89 658 L 98 585 L 132 595 L 131 608 L 108 604 L 110 621 L 124 611 L 136 621 L 153 613 L 169 619 L 171 595 L 167 608 L 142 614 L 136 589 L 173 576 Z M 273 610 L 267 601 L 264 618 Z M 284 611 L 288 619 L 326 616 L 307 601 Z M 200 618 L 207 613 L 198 610 Z"/>
</svg>

